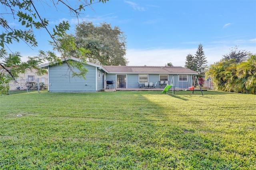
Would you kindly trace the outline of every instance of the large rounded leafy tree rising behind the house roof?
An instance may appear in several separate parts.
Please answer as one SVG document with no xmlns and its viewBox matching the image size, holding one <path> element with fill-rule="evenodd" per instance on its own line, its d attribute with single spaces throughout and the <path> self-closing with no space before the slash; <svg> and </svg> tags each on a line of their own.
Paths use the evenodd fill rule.
<svg viewBox="0 0 256 170">
<path fill-rule="evenodd" d="M 94 26 L 92 22 L 82 22 L 76 26 L 76 43 L 78 47 L 89 49 L 88 61 L 100 65 L 127 65 L 126 37 L 118 26 L 101 23 Z"/>
</svg>

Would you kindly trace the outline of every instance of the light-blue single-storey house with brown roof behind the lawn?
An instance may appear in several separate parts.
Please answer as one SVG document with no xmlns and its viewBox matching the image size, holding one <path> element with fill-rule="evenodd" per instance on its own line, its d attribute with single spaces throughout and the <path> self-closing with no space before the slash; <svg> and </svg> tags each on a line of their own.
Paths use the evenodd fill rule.
<svg viewBox="0 0 256 170">
<path fill-rule="evenodd" d="M 71 57 L 74 61 L 80 59 Z M 196 71 L 184 67 L 156 67 L 156 66 L 102 66 L 86 62 L 84 67 L 88 69 L 86 79 L 69 75 L 68 65 L 50 65 L 46 63 L 40 66 L 48 69 L 48 82 L 50 92 L 97 92 L 106 89 L 106 80 L 114 81 L 115 88 L 134 89 L 138 83 L 168 81 L 175 88 L 186 89 L 192 85 L 192 75 Z M 74 70 L 76 71 L 76 70 Z M 71 74 L 71 73 L 70 73 Z"/>
</svg>

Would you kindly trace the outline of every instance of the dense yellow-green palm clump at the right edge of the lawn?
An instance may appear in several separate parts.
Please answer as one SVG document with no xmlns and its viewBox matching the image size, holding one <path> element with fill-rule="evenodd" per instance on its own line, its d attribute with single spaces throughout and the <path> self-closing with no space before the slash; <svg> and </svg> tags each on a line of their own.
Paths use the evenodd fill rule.
<svg viewBox="0 0 256 170">
<path fill-rule="evenodd" d="M 222 59 L 206 71 L 209 77 L 216 90 L 256 94 L 256 55 L 239 64 L 234 59 Z"/>
</svg>

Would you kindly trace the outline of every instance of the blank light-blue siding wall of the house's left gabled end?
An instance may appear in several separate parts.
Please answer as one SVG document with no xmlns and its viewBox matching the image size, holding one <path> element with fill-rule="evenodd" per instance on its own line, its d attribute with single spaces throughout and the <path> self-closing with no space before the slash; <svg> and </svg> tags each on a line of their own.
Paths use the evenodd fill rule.
<svg viewBox="0 0 256 170">
<path fill-rule="evenodd" d="M 95 92 L 96 91 L 96 67 L 85 64 L 88 69 L 86 79 L 72 77 L 66 63 L 49 67 L 50 92 Z M 74 71 L 78 71 L 74 69 Z M 87 85 L 86 85 L 87 84 Z"/>
</svg>

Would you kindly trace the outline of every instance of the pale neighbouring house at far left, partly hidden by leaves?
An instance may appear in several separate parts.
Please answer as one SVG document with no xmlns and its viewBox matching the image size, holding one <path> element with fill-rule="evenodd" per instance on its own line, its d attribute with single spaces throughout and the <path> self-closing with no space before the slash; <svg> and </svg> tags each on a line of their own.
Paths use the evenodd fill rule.
<svg viewBox="0 0 256 170">
<path fill-rule="evenodd" d="M 31 69 L 26 71 L 25 73 L 20 73 L 18 77 L 16 78 L 16 81 L 18 83 L 14 83 L 14 81 L 10 82 L 10 90 L 18 90 L 17 87 L 20 87 L 20 90 L 26 90 L 26 82 L 28 81 L 34 81 L 37 83 L 37 80 L 39 79 L 39 83 L 48 83 L 48 73 L 44 73 L 44 75 L 37 75 L 36 69 Z M 13 85 L 12 85 L 13 84 Z"/>
</svg>

